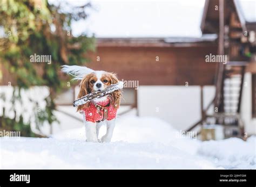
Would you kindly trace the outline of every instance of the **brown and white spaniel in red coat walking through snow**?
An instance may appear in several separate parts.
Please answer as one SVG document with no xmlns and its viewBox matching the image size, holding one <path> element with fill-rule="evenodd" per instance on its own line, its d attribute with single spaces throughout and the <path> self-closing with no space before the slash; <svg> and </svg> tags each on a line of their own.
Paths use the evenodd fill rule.
<svg viewBox="0 0 256 187">
<path fill-rule="evenodd" d="M 62 66 L 64 73 L 72 75 L 74 80 L 80 80 L 80 90 L 78 98 L 87 95 L 88 93 L 104 90 L 111 84 L 118 83 L 117 75 L 106 71 L 92 70 L 81 66 Z M 95 98 L 90 102 L 79 105 L 77 112 L 83 114 L 85 125 L 85 133 L 88 142 L 110 142 L 117 110 L 120 106 L 122 92 L 116 90 L 109 95 Z M 106 134 L 99 140 L 99 129 L 106 123 Z"/>
</svg>

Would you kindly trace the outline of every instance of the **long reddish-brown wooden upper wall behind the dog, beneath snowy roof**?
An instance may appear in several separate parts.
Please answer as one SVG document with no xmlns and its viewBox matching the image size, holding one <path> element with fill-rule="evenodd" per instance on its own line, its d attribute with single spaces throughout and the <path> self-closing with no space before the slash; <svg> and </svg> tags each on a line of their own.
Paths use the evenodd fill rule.
<svg viewBox="0 0 256 187">
<path fill-rule="evenodd" d="M 206 63 L 205 55 L 216 52 L 216 46 L 98 47 L 86 66 L 116 72 L 119 79 L 138 80 L 139 85 L 213 85 L 217 64 Z"/>
</svg>

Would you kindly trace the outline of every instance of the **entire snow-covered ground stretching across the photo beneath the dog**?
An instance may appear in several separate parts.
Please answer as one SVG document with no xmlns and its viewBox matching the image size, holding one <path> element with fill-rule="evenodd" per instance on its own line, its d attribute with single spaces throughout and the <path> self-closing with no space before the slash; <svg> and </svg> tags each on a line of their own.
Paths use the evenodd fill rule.
<svg viewBox="0 0 256 187">
<path fill-rule="evenodd" d="M 101 129 L 100 135 L 105 129 Z M 1 169 L 256 169 L 256 136 L 182 138 L 157 118 L 120 117 L 111 143 L 85 142 L 84 128 L 52 138 L 1 138 Z"/>
</svg>

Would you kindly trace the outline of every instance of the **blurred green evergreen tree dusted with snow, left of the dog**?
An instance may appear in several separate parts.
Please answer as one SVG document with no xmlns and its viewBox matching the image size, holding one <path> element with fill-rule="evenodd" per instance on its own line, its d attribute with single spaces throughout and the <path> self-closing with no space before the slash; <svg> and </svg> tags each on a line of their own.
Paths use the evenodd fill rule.
<svg viewBox="0 0 256 187">
<path fill-rule="evenodd" d="M 60 78 L 60 66 L 63 64 L 80 65 L 88 61 L 87 51 L 94 50 L 94 37 L 81 34 L 73 37 L 71 21 L 86 19 L 90 3 L 74 7 L 66 3 L 49 4 L 48 1 L 0 0 L 0 70 L 7 69 L 13 79 L 12 107 L 1 106 L 0 130 L 21 131 L 22 136 L 35 136 L 30 124 L 32 119 L 37 127 L 47 121 L 50 125 L 57 121 L 53 114 L 56 109 L 56 94 L 66 88 L 66 82 Z M 69 8 L 69 11 L 64 11 Z M 1 33 L 1 32 L 0 32 Z M 51 63 L 31 63 L 31 55 L 51 56 Z M 0 74 L 0 82 L 1 82 Z M 22 103 L 21 91 L 35 85 L 49 88 L 45 98 L 46 106 L 39 109 L 35 100 L 30 99 L 35 111 L 28 122 L 24 114 L 17 112 L 15 105 Z M 5 93 L 1 91 L 1 102 L 5 102 Z M 6 115 L 14 112 L 14 118 Z M 38 128 L 39 129 L 39 128 Z"/>
</svg>

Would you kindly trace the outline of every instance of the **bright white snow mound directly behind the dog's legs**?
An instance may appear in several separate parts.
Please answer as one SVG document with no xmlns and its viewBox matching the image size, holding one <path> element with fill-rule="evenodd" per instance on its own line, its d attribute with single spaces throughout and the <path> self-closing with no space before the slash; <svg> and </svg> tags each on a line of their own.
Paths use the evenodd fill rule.
<svg viewBox="0 0 256 187">
<path fill-rule="evenodd" d="M 105 132 L 106 126 L 102 126 L 100 128 L 99 137 L 103 136 Z M 52 137 L 60 140 L 86 140 L 84 127 L 63 131 Z M 179 132 L 164 120 L 154 117 L 129 116 L 116 120 L 112 141 L 168 143 L 178 137 L 180 137 Z"/>
</svg>

